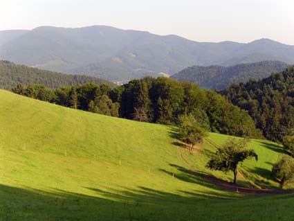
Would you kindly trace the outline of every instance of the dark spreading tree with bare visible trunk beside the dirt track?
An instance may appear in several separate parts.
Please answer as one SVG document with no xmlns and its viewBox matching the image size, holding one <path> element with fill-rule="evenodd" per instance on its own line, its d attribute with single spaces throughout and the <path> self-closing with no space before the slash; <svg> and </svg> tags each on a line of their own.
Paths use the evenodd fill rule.
<svg viewBox="0 0 294 221">
<path fill-rule="evenodd" d="M 206 167 L 211 170 L 221 170 L 224 173 L 232 171 L 234 173 L 234 184 L 237 184 L 238 164 L 252 157 L 258 160 L 255 151 L 246 149 L 246 144 L 245 139 L 241 141 L 231 139 L 221 148 L 217 149 L 217 152 L 208 161 Z"/>
</svg>

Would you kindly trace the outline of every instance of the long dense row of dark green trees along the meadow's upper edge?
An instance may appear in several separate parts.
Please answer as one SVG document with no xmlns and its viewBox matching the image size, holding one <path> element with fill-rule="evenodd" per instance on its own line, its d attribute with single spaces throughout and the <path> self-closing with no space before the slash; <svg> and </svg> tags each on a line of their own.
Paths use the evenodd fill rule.
<svg viewBox="0 0 294 221">
<path fill-rule="evenodd" d="M 248 113 L 221 95 L 169 78 L 146 77 L 114 89 L 89 83 L 55 90 L 17 85 L 12 91 L 65 107 L 165 125 L 178 125 L 179 116 L 192 114 L 199 127 L 208 131 L 260 136 Z"/>
</svg>

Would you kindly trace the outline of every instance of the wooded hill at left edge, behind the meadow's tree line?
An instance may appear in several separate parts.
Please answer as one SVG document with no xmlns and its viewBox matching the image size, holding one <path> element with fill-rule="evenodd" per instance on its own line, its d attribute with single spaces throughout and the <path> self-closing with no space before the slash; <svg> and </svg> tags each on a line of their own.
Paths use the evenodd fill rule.
<svg viewBox="0 0 294 221">
<path fill-rule="evenodd" d="M 95 82 L 98 85 L 106 83 L 111 87 L 115 86 L 113 83 L 100 78 L 44 71 L 0 60 L 0 88 L 2 89 L 11 89 L 16 87 L 18 83 L 23 85 L 42 84 L 51 89 L 56 89 L 87 82 Z"/>
</svg>

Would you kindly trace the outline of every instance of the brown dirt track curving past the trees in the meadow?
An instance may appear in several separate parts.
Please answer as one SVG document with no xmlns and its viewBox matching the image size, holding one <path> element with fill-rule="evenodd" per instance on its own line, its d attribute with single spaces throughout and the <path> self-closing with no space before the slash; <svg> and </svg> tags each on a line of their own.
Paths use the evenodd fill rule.
<svg viewBox="0 0 294 221">
<path fill-rule="evenodd" d="M 183 157 L 183 154 L 181 152 L 181 150 L 183 148 L 177 146 L 176 147 L 178 150 L 178 155 L 179 157 L 187 164 L 188 168 L 193 171 L 196 172 L 196 169 L 194 168 L 194 166 L 189 163 L 189 161 L 187 161 L 185 159 L 185 157 Z M 199 148 L 200 149 L 200 148 Z M 197 150 L 199 150 L 197 149 Z M 244 178 L 247 179 L 247 177 L 239 172 L 239 174 Z M 285 190 L 274 190 L 274 189 L 269 189 L 269 188 L 264 188 L 264 189 L 258 189 L 258 188 L 249 188 L 249 187 L 244 187 L 244 186 L 238 186 L 235 185 L 231 182 L 226 182 L 222 179 L 218 179 L 217 177 L 212 177 L 211 175 L 203 175 L 203 177 L 205 177 L 205 179 L 214 184 L 215 186 L 217 186 L 218 188 L 224 189 L 226 191 L 234 191 L 234 192 L 238 192 L 238 193 L 242 193 L 242 194 L 285 194 L 285 193 L 292 193 L 292 191 L 285 191 Z"/>
</svg>

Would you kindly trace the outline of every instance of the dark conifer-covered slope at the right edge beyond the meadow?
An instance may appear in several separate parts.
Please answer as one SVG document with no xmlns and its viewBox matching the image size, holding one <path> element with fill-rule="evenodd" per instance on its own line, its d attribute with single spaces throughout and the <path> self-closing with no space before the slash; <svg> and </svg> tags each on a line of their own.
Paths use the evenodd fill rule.
<svg viewBox="0 0 294 221">
<path fill-rule="evenodd" d="M 267 139 L 282 141 L 294 128 L 294 67 L 264 80 L 232 85 L 221 94 L 247 110 Z"/>
</svg>

